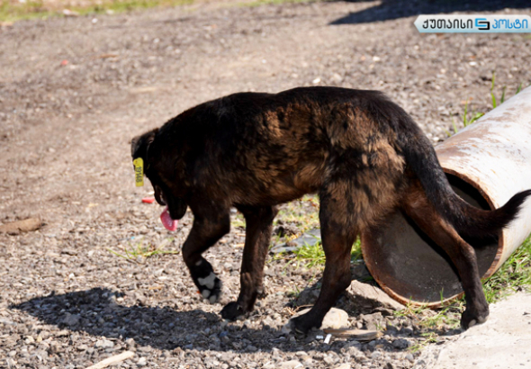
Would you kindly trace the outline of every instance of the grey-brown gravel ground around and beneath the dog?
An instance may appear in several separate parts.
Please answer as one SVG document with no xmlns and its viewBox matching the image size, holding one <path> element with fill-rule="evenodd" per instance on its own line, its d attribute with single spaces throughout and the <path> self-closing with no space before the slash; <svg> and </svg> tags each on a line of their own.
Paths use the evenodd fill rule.
<svg viewBox="0 0 531 369">
<path fill-rule="evenodd" d="M 379 89 L 436 142 L 468 98 L 489 110 L 492 70 L 498 94 L 531 82 L 529 37 L 420 35 L 414 16 L 395 12 L 407 15 L 408 4 L 203 4 L 0 27 L 0 222 L 45 222 L 0 234 L 0 367 L 84 368 L 126 349 L 135 356 L 121 367 L 413 366 L 409 347 L 426 342 L 413 317 L 340 301 L 353 327 L 380 320 L 385 336 L 327 345 L 282 329 L 293 291 L 319 271 L 270 260 L 266 299 L 227 324 L 179 255 L 130 261 L 109 251 L 164 244 L 178 253 L 191 215 L 171 235 L 160 209 L 139 201 L 149 189 L 134 187 L 130 138 L 196 103 L 297 85 Z M 222 303 L 238 293 L 243 236 L 233 228 L 207 256 Z"/>
</svg>

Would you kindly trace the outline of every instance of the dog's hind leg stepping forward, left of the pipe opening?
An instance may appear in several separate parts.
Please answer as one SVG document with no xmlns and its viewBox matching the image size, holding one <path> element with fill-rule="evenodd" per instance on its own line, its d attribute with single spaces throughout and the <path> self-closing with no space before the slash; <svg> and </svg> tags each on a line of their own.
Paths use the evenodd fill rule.
<svg viewBox="0 0 531 369">
<path fill-rule="evenodd" d="M 347 196 L 350 197 L 350 196 Z M 320 226 L 326 263 L 320 295 L 306 314 L 291 322 L 295 331 L 306 334 L 311 328 L 320 328 L 327 312 L 351 282 L 350 252 L 356 240 L 356 214 L 347 211 L 352 198 L 330 198 L 320 194 Z"/>
</svg>

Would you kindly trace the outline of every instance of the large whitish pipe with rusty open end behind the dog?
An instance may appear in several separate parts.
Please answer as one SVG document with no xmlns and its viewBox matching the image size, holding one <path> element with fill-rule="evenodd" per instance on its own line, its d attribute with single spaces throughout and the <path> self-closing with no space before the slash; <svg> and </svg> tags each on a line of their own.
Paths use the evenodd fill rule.
<svg viewBox="0 0 531 369">
<path fill-rule="evenodd" d="M 483 209 L 502 206 L 531 188 L 531 87 L 436 148 L 450 184 Z M 365 263 L 393 299 L 436 308 L 463 293 L 446 253 L 400 211 L 383 228 L 362 234 Z M 474 246 L 482 278 L 493 275 L 531 232 L 531 201 L 499 242 Z"/>
</svg>

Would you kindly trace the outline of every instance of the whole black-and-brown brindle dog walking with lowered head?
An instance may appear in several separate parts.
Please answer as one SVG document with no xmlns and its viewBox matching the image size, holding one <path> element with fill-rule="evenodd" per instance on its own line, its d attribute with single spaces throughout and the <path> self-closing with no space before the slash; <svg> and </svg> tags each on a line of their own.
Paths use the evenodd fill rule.
<svg viewBox="0 0 531 369">
<path fill-rule="evenodd" d="M 531 191 L 495 211 L 482 211 L 448 184 L 434 148 L 419 126 L 383 94 L 335 87 L 279 94 L 231 94 L 202 103 L 131 143 L 142 157 L 157 202 L 173 220 L 193 211 L 183 257 L 202 296 L 220 297 L 220 279 L 202 253 L 230 229 L 230 207 L 246 220 L 237 302 L 221 311 L 234 320 L 264 293 L 263 268 L 276 205 L 318 193 L 326 255 L 320 296 L 293 320 L 320 327 L 350 284 L 350 251 L 364 229 L 401 209 L 446 250 L 466 294 L 461 320 L 482 323 L 489 305 L 473 247 L 464 239 L 496 238 Z"/>
</svg>

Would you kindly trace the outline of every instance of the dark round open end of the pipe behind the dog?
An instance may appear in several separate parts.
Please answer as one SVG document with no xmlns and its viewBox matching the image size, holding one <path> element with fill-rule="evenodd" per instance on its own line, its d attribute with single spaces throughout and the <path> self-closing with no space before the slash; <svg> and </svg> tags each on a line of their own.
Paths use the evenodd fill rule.
<svg viewBox="0 0 531 369">
<path fill-rule="evenodd" d="M 473 206 L 490 210 L 489 202 L 472 184 L 446 174 L 455 193 Z M 365 262 L 374 279 L 403 302 L 437 304 L 462 293 L 460 278 L 446 252 L 400 211 L 386 226 L 363 236 Z M 498 243 L 472 245 L 480 274 L 493 263 Z"/>
</svg>

